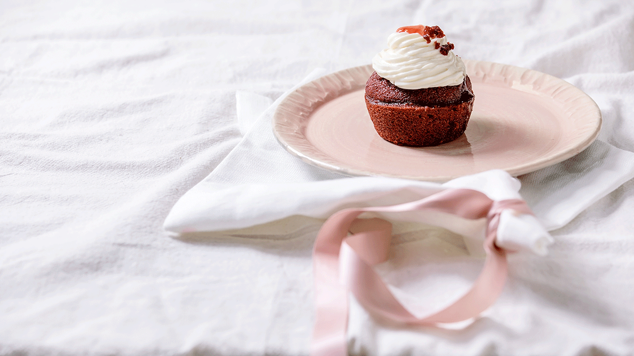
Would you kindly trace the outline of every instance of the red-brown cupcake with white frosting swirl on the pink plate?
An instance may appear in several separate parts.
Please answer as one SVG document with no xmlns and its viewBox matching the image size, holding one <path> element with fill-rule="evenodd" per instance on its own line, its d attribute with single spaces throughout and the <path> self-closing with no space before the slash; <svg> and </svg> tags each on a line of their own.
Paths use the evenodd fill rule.
<svg viewBox="0 0 634 356">
<path fill-rule="evenodd" d="M 471 81 L 439 27 L 401 27 L 372 60 L 365 103 L 377 133 L 400 146 L 437 146 L 462 136 Z"/>
</svg>

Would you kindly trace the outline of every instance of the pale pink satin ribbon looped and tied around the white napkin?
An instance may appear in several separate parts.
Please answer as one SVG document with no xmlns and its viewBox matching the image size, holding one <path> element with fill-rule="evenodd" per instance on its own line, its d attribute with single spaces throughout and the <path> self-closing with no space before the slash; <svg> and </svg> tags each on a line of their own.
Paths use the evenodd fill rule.
<svg viewBox="0 0 634 356">
<path fill-rule="evenodd" d="M 506 252 L 495 245 L 500 213 L 505 209 L 532 213 L 522 200 L 493 201 L 472 189 L 446 189 L 410 203 L 349 208 L 334 213 L 321 227 L 313 249 L 316 320 L 311 355 L 347 355 L 349 291 L 370 313 L 407 324 L 463 321 L 491 306 L 507 277 Z M 487 219 L 486 260 L 472 288 L 448 307 L 422 318 L 408 312 L 372 268 L 387 260 L 391 224 L 383 219 L 357 219 L 363 212 L 410 211 L 436 211 L 463 219 Z M 348 236 L 348 232 L 352 235 Z M 341 268 L 340 260 L 345 261 Z"/>
</svg>

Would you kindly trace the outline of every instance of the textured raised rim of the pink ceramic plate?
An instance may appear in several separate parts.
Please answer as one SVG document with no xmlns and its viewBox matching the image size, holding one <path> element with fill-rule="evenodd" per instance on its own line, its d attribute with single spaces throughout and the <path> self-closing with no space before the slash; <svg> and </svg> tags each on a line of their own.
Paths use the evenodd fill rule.
<svg viewBox="0 0 634 356">
<path fill-rule="evenodd" d="M 583 110 L 576 111 L 583 111 L 584 117 L 594 118 L 594 120 L 590 120 L 586 123 L 586 127 L 589 128 L 589 130 L 586 130 L 587 132 L 585 132 L 584 135 L 581 135 L 576 139 L 576 144 L 570 144 L 567 149 L 562 149 L 561 151 L 558 151 L 555 155 L 548 156 L 548 158 L 545 158 L 543 160 L 533 160 L 531 162 L 526 162 L 514 167 L 499 169 L 505 170 L 514 177 L 534 172 L 541 168 L 549 167 L 550 165 L 563 162 L 564 160 L 573 157 L 574 155 L 583 151 L 583 149 L 590 146 L 590 144 L 592 144 L 593 141 L 597 139 L 602 126 L 602 115 L 600 108 L 598 108 L 597 103 L 588 94 L 581 91 L 581 89 L 579 89 L 578 87 L 573 86 L 573 84 L 570 84 L 569 82 L 566 82 L 566 80 L 554 77 L 553 75 L 547 73 L 538 72 L 536 70 L 528 68 L 516 67 L 514 65 L 465 59 L 463 59 L 463 61 L 465 62 L 465 66 L 467 67 L 467 72 L 469 73 L 470 77 L 472 77 L 474 73 L 484 71 L 484 77 L 486 77 L 487 73 L 489 72 L 498 74 L 507 73 L 507 75 L 501 76 L 501 78 L 503 78 L 503 82 L 505 83 L 507 83 L 507 80 L 513 79 L 513 77 L 518 76 L 521 79 L 528 80 L 529 82 L 532 80 L 533 84 L 535 84 L 536 81 L 545 82 L 545 84 L 547 84 L 547 87 L 544 91 L 539 91 L 531 88 L 531 91 L 527 92 L 531 92 L 533 94 L 544 94 L 545 92 L 552 91 L 552 96 L 550 96 L 549 98 L 554 101 L 557 101 L 557 98 L 560 98 L 562 96 L 566 97 L 568 101 L 571 97 L 574 97 L 573 101 L 580 100 L 581 103 L 579 104 L 583 104 Z M 284 149 L 286 149 L 292 155 L 297 156 L 302 161 L 316 167 L 325 168 L 327 170 L 331 170 L 343 175 L 395 177 L 403 179 L 415 179 L 419 181 L 449 181 L 451 179 L 459 177 L 455 175 L 391 175 L 380 172 L 371 172 L 360 168 L 340 167 L 332 163 L 324 162 L 323 159 L 315 157 L 315 155 L 306 153 L 306 150 L 302 149 L 302 144 L 288 142 L 288 140 L 286 139 L 287 137 L 285 137 L 285 134 L 287 132 L 285 132 L 285 130 L 283 129 L 280 129 L 280 127 L 284 127 L 284 115 L 292 115 L 300 118 L 302 116 L 309 117 L 309 115 L 298 115 L 296 113 L 297 111 L 295 111 L 294 109 L 303 107 L 304 111 L 300 111 L 301 113 L 306 113 L 306 110 L 308 113 L 312 113 L 319 106 L 327 103 L 332 99 L 338 98 L 339 96 L 345 95 L 349 92 L 358 91 L 365 87 L 365 82 L 367 78 L 370 77 L 372 72 L 373 69 L 372 65 L 370 64 L 346 68 L 344 70 L 339 70 L 337 72 L 324 75 L 323 77 L 320 77 L 318 79 L 314 79 L 311 82 L 307 82 L 306 84 L 297 87 L 296 89 L 294 89 L 294 91 L 289 92 L 287 96 L 285 96 L 285 98 L 281 99 L 280 104 L 275 109 L 275 113 L 273 113 L 273 117 L 271 118 L 271 124 L 273 127 L 273 134 L 275 136 L 275 139 Z M 508 75 L 509 72 L 512 73 L 514 76 L 510 77 L 510 75 Z M 477 76 L 474 75 L 474 77 L 479 77 L 479 75 L 480 73 L 478 73 Z M 364 76 L 365 79 L 363 79 Z M 521 87 L 526 86 L 526 84 L 522 84 L 521 82 L 515 83 L 515 85 L 518 84 L 519 87 L 513 87 L 514 83 L 507 83 L 507 86 L 509 89 L 512 90 L 526 91 L 521 89 Z M 304 96 L 305 92 L 315 91 L 318 92 L 320 95 L 316 97 Z M 576 94 L 576 96 L 571 96 L 571 93 Z M 558 102 L 566 104 L 566 102 L 563 101 Z M 571 115 L 569 115 L 569 117 L 571 117 Z M 297 132 L 294 132 L 294 134 L 297 134 Z M 318 150 L 318 148 L 311 144 L 307 144 L 304 146 L 309 146 Z M 475 174 L 477 172 L 479 171 L 474 171 L 470 174 Z"/>
</svg>

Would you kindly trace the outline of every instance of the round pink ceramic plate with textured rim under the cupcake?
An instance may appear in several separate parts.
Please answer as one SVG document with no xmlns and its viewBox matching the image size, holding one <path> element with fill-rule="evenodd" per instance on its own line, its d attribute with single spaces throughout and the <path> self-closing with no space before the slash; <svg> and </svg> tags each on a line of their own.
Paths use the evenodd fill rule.
<svg viewBox="0 0 634 356">
<path fill-rule="evenodd" d="M 314 80 L 291 92 L 273 116 L 290 153 L 347 175 L 448 181 L 500 168 L 517 176 L 559 163 L 597 137 L 601 113 L 584 92 L 545 73 L 467 61 L 474 110 L 463 136 L 427 148 L 378 136 L 365 107 L 370 65 Z"/>
</svg>

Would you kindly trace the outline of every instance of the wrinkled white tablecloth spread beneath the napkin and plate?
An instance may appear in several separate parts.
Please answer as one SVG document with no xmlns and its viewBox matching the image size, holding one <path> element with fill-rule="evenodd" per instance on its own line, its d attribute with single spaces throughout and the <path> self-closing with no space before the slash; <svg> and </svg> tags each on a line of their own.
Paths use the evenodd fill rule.
<svg viewBox="0 0 634 356">
<path fill-rule="evenodd" d="M 264 110 L 314 68 L 369 63 L 403 25 L 439 25 L 463 58 L 571 82 L 600 106 L 599 139 L 634 151 L 634 5 L 625 1 L 0 9 L 2 355 L 306 355 L 322 220 L 179 237 L 162 224 L 256 115 L 236 111 L 236 98 Z M 411 355 L 631 355 L 633 193 L 628 181 L 553 231 L 548 257 L 515 258 L 479 321 L 354 329 L 364 343 L 353 350 L 390 355 L 414 338 Z"/>
</svg>

